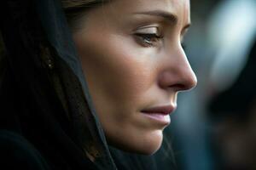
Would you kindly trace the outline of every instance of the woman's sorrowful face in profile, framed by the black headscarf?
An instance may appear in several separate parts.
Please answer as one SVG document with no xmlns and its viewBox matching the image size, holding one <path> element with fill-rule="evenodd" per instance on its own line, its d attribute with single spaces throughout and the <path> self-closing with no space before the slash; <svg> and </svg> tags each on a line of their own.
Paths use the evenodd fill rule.
<svg viewBox="0 0 256 170">
<path fill-rule="evenodd" d="M 181 45 L 189 23 L 189 0 L 119 0 L 86 13 L 73 38 L 109 144 L 160 148 L 177 92 L 196 84 Z"/>
</svg>

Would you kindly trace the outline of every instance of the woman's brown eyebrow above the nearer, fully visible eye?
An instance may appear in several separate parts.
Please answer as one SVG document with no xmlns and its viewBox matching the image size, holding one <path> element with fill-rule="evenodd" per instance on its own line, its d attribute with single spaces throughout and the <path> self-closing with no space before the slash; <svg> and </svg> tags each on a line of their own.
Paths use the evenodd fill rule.
<svg viewBox="0 0 256 170">
<path fill-rule="evenodd" d="M 154 10 L 154 11 L 144 11 L 144 12 L 137 12 L 134 14 L 148 14 L 148 15 L 154 15 L 164 18 L 165 20 L 170 21 L 173 25 L 177 24 L 177 15 L 162 11 L 162 10 Z"/>
</svg>

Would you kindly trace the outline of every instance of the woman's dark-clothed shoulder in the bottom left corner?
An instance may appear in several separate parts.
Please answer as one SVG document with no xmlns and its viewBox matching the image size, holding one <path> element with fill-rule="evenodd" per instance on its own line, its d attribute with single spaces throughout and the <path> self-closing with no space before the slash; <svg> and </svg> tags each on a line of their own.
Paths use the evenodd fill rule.
<svg viewBox="0 0 256 170">
<path fill-rule="evenodd" d="M 1 169 L 38 169 L 49 170 L 49 167 L 32 144 L 18 133 L 0 130 Z"/>
</svg>

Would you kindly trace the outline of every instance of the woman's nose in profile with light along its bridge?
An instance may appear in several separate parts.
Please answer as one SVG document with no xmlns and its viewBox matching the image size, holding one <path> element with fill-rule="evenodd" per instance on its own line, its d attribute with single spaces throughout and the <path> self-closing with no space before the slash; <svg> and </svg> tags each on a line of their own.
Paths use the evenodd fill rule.
<svg viewBox="0 0 256 170">
<path fill-rule="evenodd" d="M 183 50 L 176 54 L 169 54 L 163 65 L 165 65 L 165 69 L 160 72 L 159 77 L 161 88 L 174 91 L 195 88 L 197 79 Z"/>
</svg>

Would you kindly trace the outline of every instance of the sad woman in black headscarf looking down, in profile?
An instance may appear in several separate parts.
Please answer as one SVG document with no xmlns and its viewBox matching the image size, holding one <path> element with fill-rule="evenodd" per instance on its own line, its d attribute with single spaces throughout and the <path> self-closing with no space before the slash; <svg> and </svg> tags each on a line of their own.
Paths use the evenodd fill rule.
<svg viewBox="0 0 256 170">
<path fill-rule="evenodd" d="M 26 169 L 146 168 L 146 159 L 120 150 L 158 150 L 177 93 L 195 87 L 181 46 L 189 1 L 11 0 L 3 7 L 5 162 Z M 110 153 L 110 145 L 120 150 Z"/>
</svg>

